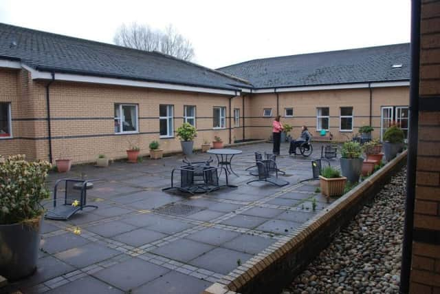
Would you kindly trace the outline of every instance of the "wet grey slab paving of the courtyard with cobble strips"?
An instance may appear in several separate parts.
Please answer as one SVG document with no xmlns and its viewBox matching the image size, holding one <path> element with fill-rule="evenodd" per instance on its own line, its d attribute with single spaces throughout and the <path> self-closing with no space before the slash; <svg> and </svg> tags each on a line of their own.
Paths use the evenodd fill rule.
<svg viewBox="0 0 440 294">
<path fill-rule="evenodd" d="M 98 178 L 87 197 L 99 208 L 45 220 L 38 269 L 16 286 L 23 293 L 200 293 L 329 205 L 315 192 L 318 181 L 300 182 L 311 178 L 311 158 L 289 157 L 287 148 L 277 159 L 286 173 L 280 177 L 290 182 L 282 188 L 246 185 L 254 178 L 245 171 L 253 152 L 270 152 L 267 143 L 236 148 L 243 151 L 232 161 L 239 177 L 230 182 L 238 188 L 195 196 L 162 191 L 182 156 L 51 174 L 50 187 L 58 178 Z M 311 157 L 319 158 L 320 145 L 314 148 Z"/>
</svg>

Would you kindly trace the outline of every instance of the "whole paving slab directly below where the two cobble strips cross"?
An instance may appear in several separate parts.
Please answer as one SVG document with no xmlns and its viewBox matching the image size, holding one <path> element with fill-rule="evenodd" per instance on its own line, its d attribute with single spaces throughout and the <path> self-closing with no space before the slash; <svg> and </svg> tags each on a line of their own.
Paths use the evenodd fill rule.
<svg viewBox="0 0 440 294">
<path fill-rule="evenodd" d="M 168 271 L 170 270 L 151 262 L 146 262 L 139 258 L 131 258 L 98 271 L 93 275 L 123 291 L 129 291 L 164 275 Z"/>
</svg>

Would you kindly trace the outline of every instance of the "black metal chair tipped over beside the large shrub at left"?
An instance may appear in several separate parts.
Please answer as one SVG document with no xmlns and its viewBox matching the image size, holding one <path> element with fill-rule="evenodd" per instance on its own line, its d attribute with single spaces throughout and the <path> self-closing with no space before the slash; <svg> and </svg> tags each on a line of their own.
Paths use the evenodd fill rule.
<svg viewBox="0 0 440 294">
<path fill-rule="evenodd" d="M 51 220 L 68 220 L 76 212 L 85 209 L 86 207 L 91 207 L 98 209 L 96 205 L 87 204 L 87 189 L 93 187 L 91 182 L 96 180 L 83 180 L 83 179 L 72 179 L 72 178 L 62 178 L 57 180 L 54 187 L 54 208 L 48 210 L 45 213 L 45 218 Z M 64 185 L 63 189 L 61 187 Z M 57 205 L 57 196 L 59 192 L 64 192 L 63 204 Z"/>
</svg>

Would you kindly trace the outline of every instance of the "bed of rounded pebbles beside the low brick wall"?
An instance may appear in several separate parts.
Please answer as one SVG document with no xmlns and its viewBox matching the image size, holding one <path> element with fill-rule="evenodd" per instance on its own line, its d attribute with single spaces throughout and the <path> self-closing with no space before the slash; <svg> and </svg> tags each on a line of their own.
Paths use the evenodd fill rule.
<svg viewBox="0 0 440 294">
<path fill-rule="evenodd" d="M 405 194 L 404 168 L 282 294 L 398 293 Z"/>
</svg>

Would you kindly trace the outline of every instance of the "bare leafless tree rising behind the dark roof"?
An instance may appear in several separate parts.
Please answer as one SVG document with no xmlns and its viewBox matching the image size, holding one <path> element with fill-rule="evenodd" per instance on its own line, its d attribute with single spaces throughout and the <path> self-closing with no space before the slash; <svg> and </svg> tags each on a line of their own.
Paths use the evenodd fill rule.
<svg viewBox="0 0 440 294">
<path fill-rule="evenodd" d="M 154 30 L 149 25 L 122 24 L 115 33 L 113 41 L 116 45 L 145 51 L 159 51 L 186 61 L 194 58 L 191 42 L 179 34 L 173 25 L 168 25 L 162 32 Z"/>
</svg>

